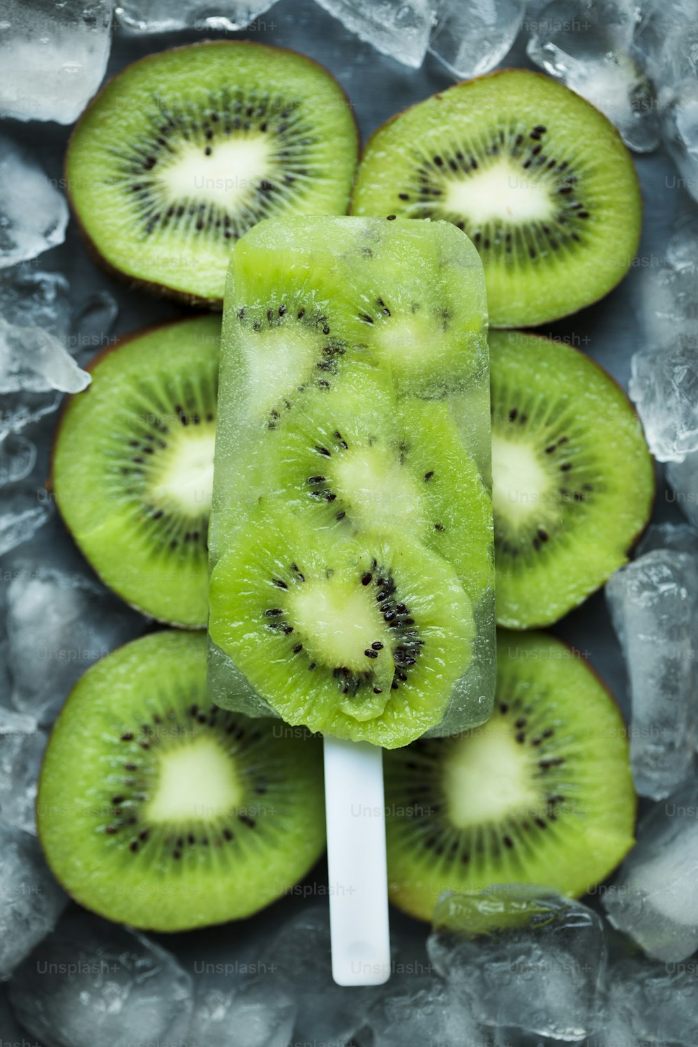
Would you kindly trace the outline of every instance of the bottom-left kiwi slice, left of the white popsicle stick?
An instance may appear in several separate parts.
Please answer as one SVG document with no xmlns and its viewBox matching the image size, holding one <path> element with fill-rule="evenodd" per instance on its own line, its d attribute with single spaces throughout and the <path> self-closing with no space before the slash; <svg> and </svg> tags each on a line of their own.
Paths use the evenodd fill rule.
<svg viewBox="0 0 698 1047">
<path fill-rule="evenodd" d="M 119 923 L 183 931 L 257 912 L 324 845 L 321 752 L 212 705 L 203 633 L 156 632 L 70 694 L 39 782 L 59 882 Z"/>
</svg>

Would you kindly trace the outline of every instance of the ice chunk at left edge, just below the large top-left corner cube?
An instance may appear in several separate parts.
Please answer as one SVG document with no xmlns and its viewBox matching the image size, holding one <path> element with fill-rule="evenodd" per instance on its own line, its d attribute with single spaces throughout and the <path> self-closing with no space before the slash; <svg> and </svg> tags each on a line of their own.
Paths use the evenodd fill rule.
<svg viewBox="0 0 698 1047">
<path fill-rule="evenodd" d="M 0 135 L 0 269 L 62 244 L 67 224 L 65 197 L 26 150 Z"/>
</svg>

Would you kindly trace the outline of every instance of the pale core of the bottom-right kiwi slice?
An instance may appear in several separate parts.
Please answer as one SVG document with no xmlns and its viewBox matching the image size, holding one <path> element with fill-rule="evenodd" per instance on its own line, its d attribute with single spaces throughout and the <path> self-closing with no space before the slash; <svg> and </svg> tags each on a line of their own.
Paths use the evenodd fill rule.
<svg viewBox="0 0 698 1047">
<path fill-rule="evenodd" d="M 444 761 L 449 817 L 458 829 L 544 806 L 525 751 L 505 720 L 490 720 L 455 741 Z"/>
</svg>

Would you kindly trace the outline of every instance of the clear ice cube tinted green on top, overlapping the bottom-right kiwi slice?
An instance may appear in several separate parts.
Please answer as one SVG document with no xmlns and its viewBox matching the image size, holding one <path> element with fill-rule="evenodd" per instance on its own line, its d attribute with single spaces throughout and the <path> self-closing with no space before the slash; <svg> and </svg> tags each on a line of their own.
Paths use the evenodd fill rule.
<svg viewBox="0 0 698 1047">
<path fill-rule="evenodd" d="M 447 894 L 427 950 L 478 1022 L 560 1040 L 594 1028 L 606 945 L 580 901 L 521 884 Z"/>
</svg>

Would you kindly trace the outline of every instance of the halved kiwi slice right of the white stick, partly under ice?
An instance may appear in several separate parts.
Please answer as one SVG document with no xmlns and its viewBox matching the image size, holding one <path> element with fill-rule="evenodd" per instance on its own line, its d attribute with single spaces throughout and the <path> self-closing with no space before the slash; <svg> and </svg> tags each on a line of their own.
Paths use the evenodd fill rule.
<svg viewBox="0 0 698 1047">
<path fill-rule="evenodd" d="M 500 630 L 495 711 L 385 760 L 390 897 L 430 919 L 444 891 L 536 884 L 578 896 L 633 845 L 621 712 L 581 655 Z"/>
</svg>

